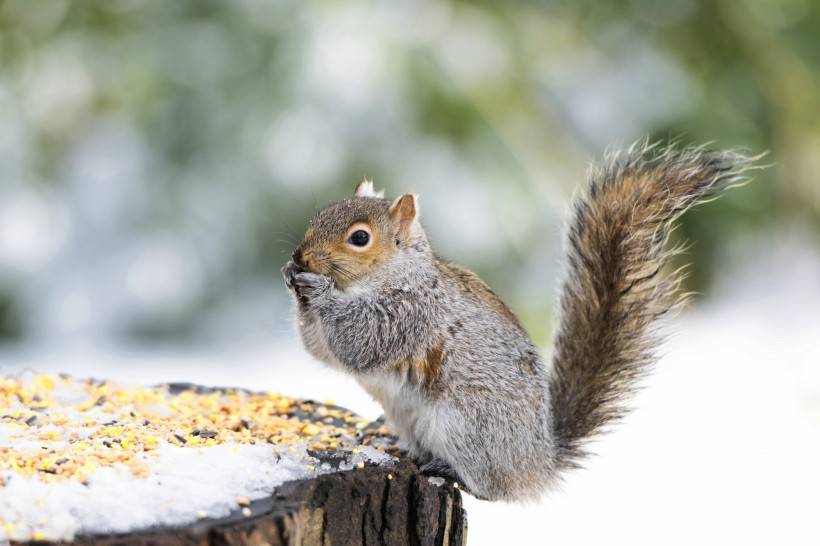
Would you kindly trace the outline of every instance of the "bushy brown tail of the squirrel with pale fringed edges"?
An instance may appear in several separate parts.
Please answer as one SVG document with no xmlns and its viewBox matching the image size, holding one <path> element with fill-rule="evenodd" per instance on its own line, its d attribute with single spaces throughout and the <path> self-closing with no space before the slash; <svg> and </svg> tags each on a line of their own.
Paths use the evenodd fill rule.
<svg viewBox="0 0 820 546">
<path fill-rule="evenodd" d="M 557 469 L 577 467 L 584 441 L 625 413 L 655 360 L 657 319 L 682 303 L 682 275 L 664 271 L 679 252 L 664 248 L 672 223 L 749 164 L 731 152 L 641 143 L 593 171 L 570 226 L 550 379 Z"/>
</svg>

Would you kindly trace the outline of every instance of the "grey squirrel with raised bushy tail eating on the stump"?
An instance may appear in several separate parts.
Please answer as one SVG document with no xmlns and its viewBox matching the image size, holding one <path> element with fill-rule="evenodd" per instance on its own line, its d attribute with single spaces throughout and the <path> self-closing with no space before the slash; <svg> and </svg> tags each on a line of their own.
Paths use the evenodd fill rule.
<svg viewBox="0 0 820 546">
<path fill-rule="evenodd" d="M 658 319 L 686 299 L 683 274 L 665 271 L 674 221 L 749 162 L 644 141 L 592 169 L 550 365 L 478 276 L 433 252 L 417 196 L 391 201 L 365 180 L 313 217 L 282 268 L 303 344 L 382 405 L 422 473 L 483 499 L 539 497 L 624 415 Z"/>
</svg>

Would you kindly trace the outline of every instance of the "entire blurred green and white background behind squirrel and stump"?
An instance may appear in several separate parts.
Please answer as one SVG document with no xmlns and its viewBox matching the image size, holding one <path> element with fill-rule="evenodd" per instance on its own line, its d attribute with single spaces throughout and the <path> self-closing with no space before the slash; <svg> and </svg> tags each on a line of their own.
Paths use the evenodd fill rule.
<svg viewBox="0 0 820 546">
<path fill-rule="evenodd" d="M 818 35 L 812 0 L 0 1 L 0 371 L 375 416 L 294 336 L 279 267 L 318 207 L 365 176 L 419 193 L 438 252 L 547 350 L 592 160 L 768 151 L 676 232 L 700 297 L 642 411 L 565 493 L 470 501 L 470 540 L 816 544 Z"/>
</svg>

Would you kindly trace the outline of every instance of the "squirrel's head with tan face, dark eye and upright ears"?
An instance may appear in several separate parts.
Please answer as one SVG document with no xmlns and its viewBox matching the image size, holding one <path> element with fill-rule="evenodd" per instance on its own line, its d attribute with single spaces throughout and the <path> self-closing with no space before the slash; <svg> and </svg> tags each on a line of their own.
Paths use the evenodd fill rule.
<svg viewBox="0 0 820 546">
<path fill-rule="evenodd" d="M 345 289 L 407 248 L 425 241 L 418 200 L 406 193 L 390 201 L 364 180 L 353 197 L 320 210 L 293 252 L 305 271 L 333 278 Z"/>
</svg>

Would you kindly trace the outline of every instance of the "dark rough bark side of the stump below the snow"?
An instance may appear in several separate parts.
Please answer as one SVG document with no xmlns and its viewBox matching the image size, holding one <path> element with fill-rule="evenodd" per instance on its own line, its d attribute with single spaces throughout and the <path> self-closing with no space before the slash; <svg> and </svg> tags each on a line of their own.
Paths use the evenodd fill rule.
<svg viewBox="0 0 820 546">
<path fill-rule="evenodd" d="M 0 378 L 2 379 L 2 378 Z M 221 392 L 189 384 L 162 388 L 172 395 L 185 391 Z M 235 392 L 236 389 L 231 389 Z M 330 423 L 329 417 L 304 412 L 311 401 L 295 404 L 292 416 L 302 422 Z M 335 408 L 335 406 L 322 406 Z M 1 408 L 0 408 L 1 409 Z M 336 408 L 341 410 L 342 408 Z M 324 412 L 328 411 L 324 409 Z M 349 414 L 347 414 L 349 415 Z M 349 417 L 348 417 L 349 419 Z M 30 423 L 35 421 L 28 419 Z M 376 423 L 373 426 L 378 426 Z M 372 427 L 371 427 L 372 428 Z M 362 437 L 369 434 L 363 427 Z M 381 436 L 387 443 L 394 438 Z M 367 442 L 367 441 L 365 441 Z M 385 444 L 382 444 L 385 445 Z M 227 517 L 202 518 L 181 526 L 133 529 L 127 533 L 84 534 L 73 540 L 14 540 L 13 545 L 74 546 L 324 546 L 324 545 L 452 545 L 466 543 L 467 520 L 461 492 L 453 483 L 423 476 L 405 454 L 390 462 L 351 465 L 350 450 L 309 451 L 319 464 L 333 469 L 306 479 L 285 482 L 267 497 L 237 506 Z M 347 462 L 347 464 L 345 464 Z M 342 468 L 350 468 L 341 470 Z M 1 468 L 1 467 L 0 467 Z M 325 467 L 327 468 L 327 467 Z M 53 477 L 53 476 L 49 476 Z M 0 495 L 3 488 L 0 487 Z M 0 498 L 2 500 L 2 498 Z M 2 543 L 2 540 L 0 540 Z"/>
</svg>

